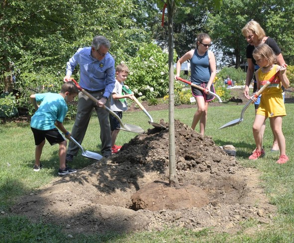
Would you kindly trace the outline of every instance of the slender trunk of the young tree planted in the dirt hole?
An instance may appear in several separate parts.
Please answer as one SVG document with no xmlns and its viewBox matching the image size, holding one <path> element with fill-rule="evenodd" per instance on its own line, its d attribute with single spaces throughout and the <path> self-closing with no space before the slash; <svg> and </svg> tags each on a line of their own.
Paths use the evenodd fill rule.
<svg viewBox="0 0 294 243">
<path fill-rule="evenodd" d="M 167 3 L 168 17 L 168 119 L 169 119 L 169 185 L 179 187 L 175 171 L 175 138 L 174 138 L 174 72 L 173 72 L 173 15 L 175 2 Z"/>
</svg>

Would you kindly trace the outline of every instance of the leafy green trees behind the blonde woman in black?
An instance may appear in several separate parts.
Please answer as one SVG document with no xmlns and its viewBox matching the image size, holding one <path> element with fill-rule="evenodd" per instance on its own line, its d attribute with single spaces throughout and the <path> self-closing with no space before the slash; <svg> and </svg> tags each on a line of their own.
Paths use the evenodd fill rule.
<svg viewBox="0 0 294 243">
<path fill-rule="evenodd" d="M 286 62 L 292 64 L 294 51 L 289 46 L 293 46 L 294 30 L 289 19 L 294 18 L 293 8 L 293 3 L 285 0 L 223 0 L 222 7 L 211 11 L 207 19 L 214 44 L 222 50 L 222 62 L 236 68 L 246 62 L 248 43 L 241 30 L 254 19 L 265 29 L 267 36 L 278 42 Z"/>
</svg>

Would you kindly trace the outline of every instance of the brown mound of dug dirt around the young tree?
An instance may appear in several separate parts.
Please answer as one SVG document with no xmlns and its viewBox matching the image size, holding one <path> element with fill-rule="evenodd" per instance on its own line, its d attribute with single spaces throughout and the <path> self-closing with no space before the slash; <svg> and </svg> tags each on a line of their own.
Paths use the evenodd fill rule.
<svg viewBox="0 0 294 243">
<path fill-rule="evenodd" d="M 249 219 L 260 223 L 256 227 L 271 222 L 276 209 L 259 187 L 258 172 L 240 166 L 211 137 L 175 121 L 177 188 L 168 185 L 168 147 L 168 129 L 149 129 L 118 154 L 24 196 L 11 211 L 70 234 L 166 226 L 233 233 Z"/>
</svg>

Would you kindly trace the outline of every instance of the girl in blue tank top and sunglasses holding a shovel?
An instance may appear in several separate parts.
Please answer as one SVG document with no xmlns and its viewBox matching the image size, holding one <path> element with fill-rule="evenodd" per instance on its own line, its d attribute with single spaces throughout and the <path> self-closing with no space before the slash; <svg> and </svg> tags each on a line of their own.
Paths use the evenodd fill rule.
<svg viewBox="0 0 294 243">
<path fill-rule="evenodd" d="M 192 95 L 197 102 L 197 111 L 192 121 L 192 129 L 195 129 L 200 121 L 200 134 L 204 135 L 206 126 L 208 104 L 214 99 L 214 96 L 208 94 L 208 91 L 214 91 L 213 80 L 216 75 L 216 63 L 213 52 L 208 48 L 211 46 L 211 39 L 208 34 L 201 33 L 197 36 L 196 49 L 186 52 L 176 63 L 176 76 L 180 77 L 181 64 L 187 60 L 191 63 L 191 82 L 207 90 L 202 92 L 194 87 Z"/>
</svg>

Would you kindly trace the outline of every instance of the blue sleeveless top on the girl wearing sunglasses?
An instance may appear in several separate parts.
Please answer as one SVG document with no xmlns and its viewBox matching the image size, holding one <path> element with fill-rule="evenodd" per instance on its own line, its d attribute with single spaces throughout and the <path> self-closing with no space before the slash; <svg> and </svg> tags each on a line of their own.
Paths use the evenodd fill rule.
<svg viewBox="0 0 294 243">
<path fill-rule="evenodd" d="M 208 51 L 203 56 L 198 55 L 197 49 L 190 60 L 191 64 L 191 82 L 197 85 L 208 83 L 211 75 L 209 68 Z"/>
</svg>

